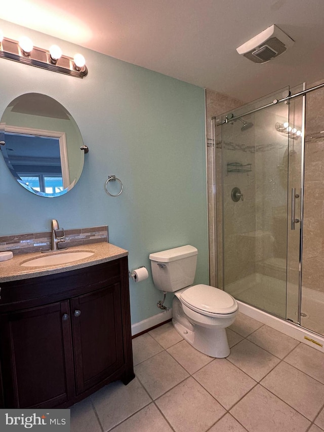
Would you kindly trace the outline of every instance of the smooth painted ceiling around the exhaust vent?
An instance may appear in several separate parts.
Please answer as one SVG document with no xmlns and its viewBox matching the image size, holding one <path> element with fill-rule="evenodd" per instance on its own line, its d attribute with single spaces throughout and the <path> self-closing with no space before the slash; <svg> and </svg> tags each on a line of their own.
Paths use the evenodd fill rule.
<svg viewBox="0 0 324 432">
<path fill-rule="evenodd" d="M 324 79 L 323 0 L 0 0 L 0 18 L 245 102 Z M 4 7 L 5 6 L 5 7 Z M 276 24 L 295 44 L 236 48 Z"/>
</svg>

